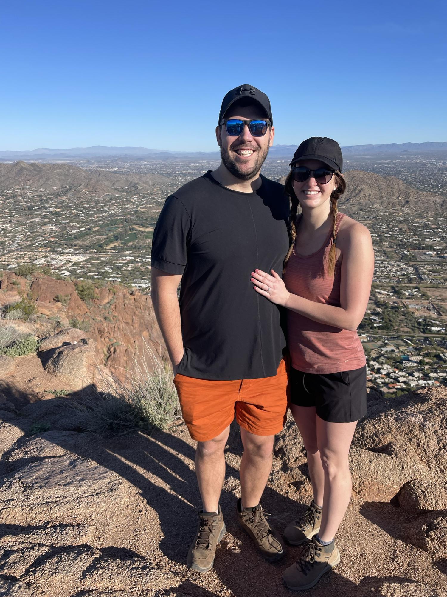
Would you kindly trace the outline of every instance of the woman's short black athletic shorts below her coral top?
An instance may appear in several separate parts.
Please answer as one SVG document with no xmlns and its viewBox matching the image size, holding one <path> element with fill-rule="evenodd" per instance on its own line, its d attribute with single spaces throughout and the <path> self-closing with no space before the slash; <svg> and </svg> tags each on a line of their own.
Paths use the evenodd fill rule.
<svg viewBox="0 0 447 597">
<path fill-rule="evenodd" d="M 293 367 L 289 375 L 290 402 L 315 407 L 328 423 L 352 423 L 367 414 L 367 366 L 339 373 L 303 373 Z"/>
</svg>

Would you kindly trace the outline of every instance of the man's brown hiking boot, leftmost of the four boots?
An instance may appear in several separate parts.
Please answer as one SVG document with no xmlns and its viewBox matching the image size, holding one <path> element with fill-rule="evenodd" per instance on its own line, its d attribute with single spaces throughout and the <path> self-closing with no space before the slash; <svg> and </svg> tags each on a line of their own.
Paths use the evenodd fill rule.
<svg viewBox="0 0 447 597">
<path fill-rule="evenodd" d="M 199 572 L 207 572 L 214 564 L 214 556 L 219 541 L 226 533 L 221 506 L 219 513 L 205 513 L 200 510 L 200 519 L 194 541 L 188 551 L 187 566 Z"/>
</svg>

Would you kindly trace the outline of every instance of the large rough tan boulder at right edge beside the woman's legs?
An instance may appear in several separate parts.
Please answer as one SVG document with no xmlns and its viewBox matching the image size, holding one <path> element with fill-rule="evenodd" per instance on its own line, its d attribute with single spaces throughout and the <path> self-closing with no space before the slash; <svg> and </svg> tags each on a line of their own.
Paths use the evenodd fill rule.
<svg viewBox="0 0 447 597">
<path fill-rule="evenodd" d="M 447 473 L 445 390 L 433 387 L 392 399 L 374 395 L 368 411 L 350 450 L 355 493 L 368 501 L 389 501 L 406 483 L 424 479 L 402 491 L 402 507 L 443 509 L 434 503 L 434 493 L 445 493 L 437 488 Z"/>
</svg>

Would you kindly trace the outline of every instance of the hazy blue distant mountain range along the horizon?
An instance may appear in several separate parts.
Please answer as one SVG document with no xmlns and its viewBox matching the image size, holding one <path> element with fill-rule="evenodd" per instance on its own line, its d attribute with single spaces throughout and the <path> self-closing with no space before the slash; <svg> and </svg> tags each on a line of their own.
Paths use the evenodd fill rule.
<svg viewBox="0 0 447 597">
<path fill-rule="evenodd" d="M 274 145 L 269 151 L 271 158 L 290 158 L 297 145 Z M 426 153 L 446 152 L 447 141 L 437 143 L 384 143 L 378 145 L 348 145 L 342 147 L 344 155 L 375 155 L 377 153 Z M 70 149 L 48 149 L 41 147 L 30 151 L 0 150 L 0 160 L 26 160 L 30 159 L 73 159 L 73 158 L 134 158 L 138 159 L 219 159 L 220 153 L 216 152 L 176 152 L 147 147 L 107 147 L 94 145 L 92 147 L 72 147 Z"/>
</svg>

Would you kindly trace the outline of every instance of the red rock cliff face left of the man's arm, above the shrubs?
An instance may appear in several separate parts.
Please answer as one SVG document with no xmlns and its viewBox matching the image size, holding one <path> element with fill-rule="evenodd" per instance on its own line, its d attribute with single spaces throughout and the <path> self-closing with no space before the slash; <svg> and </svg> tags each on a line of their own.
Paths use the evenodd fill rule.
<svg viewBox="0 0 447 597">
<path fill-rule="evenodd" d="M 97 362 L 107 367 L 121 381 L 132 375 L 135 367 L 151 367 L 151 355 L 167 359 L 166 348 L 155 318 L 150 296 L 121 285 L 107 285 L 95 289 L 95 297 L 81 300 L 76 285 L 67 280 L 57 280 L 41 273 L 34 273 L 29 281 L 13 272 L 5 272 L 0 280 L 0 296 L 19 290 L 21 296 L 35 301 L 36 313 L 48 321 L 58 319 L 58 328 L 81 327 L 83 337 L 96 342 Z M 20 296 L 17 294 L 17 297 Z M 60 299 L 64 298 L 63 302 Z M 36 319 L 34 316 L 32 319 Z M 33 334 L 46 338 L 44 320 L 33 323 Z M 70 322 L 70 323 L 69 323 Z M 29 324 L 27 324 L 29 325 Z"/>
</svg>

